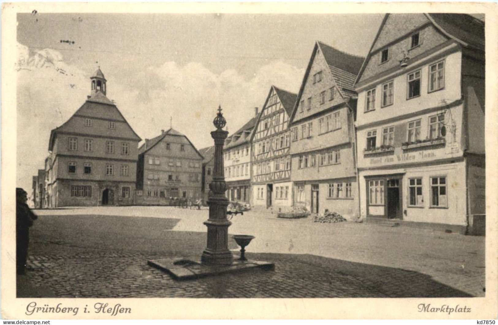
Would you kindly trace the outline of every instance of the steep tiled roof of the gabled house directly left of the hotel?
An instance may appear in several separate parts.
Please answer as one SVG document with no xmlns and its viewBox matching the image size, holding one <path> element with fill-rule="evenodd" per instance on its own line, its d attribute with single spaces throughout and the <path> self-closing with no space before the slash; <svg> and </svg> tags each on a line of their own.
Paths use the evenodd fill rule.
<svg viewBox="0 0 498 325">
<path fill-rule="evenodd" d="M 297 106 L 301 100 L 306 81 L 308 80 L 318 50 L 321 51 L 325 62 L 329 66 L 332 78 L 336 82 L 337 90 L 344 98 L 345 102 L 347 102 L 350 97 L 356 97 L 358 95 L 354 87 L 356 75 L 362 68 L 365 58 L 339 51 L 325 43 L 316 41 L 313 52 L 311 53 L 311 58 L 308 62 L 308 67 L 304 73 L 303 81 L 301 82 L 301 87 L 299 88 L 292 114 L 290 115 L 289 123 L 292 123 L 296 114 Z"/>
</svg>

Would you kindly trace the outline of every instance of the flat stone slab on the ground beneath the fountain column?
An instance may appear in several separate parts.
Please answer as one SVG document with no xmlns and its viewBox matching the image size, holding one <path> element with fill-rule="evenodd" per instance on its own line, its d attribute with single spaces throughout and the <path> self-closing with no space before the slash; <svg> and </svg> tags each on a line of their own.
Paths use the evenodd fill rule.
<svg viewBox="0 0 498 325">
<path fill-rule="evenodd" d="M 238 257 L 238 256 L 234 256 Z M 205 276 L 240 272 L 251 269 L 274 270 L 275 264 L 265 261 L 235 259 L 230 265 L 203 264 L 199 256 L 148 260 L 147 264 L 169 273 L 175 280 L 197 279 Z"/>
</svg>

